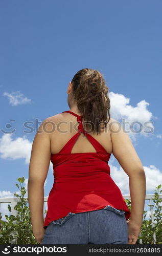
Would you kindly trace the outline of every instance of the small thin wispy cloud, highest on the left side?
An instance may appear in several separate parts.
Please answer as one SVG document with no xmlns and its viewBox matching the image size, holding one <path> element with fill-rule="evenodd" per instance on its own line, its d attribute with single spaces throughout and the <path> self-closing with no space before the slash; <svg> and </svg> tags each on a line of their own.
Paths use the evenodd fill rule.
<svg viewBox="0 0 162 256">
<path fill-rule="evenodd" d="M 24 94 L 20 93 L 19 91 L 12 93 L 4 92 L 3 96 L 8 97 L 9 103 L 12 106 L 27 104 L 31 102 L 31 99 L 28 99 Z"/>
</svg>

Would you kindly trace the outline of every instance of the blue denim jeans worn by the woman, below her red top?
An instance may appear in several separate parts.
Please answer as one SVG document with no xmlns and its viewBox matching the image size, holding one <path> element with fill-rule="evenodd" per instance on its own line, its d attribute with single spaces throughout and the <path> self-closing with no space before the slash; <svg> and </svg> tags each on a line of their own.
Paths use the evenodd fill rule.
<svg viewBox="0 0 162 256">
<path fill-rule="evenodd" d="M 124 211 L 107 205 L 99 210 L 69 212 L 50 222 L 42 244 L 128 244 Z"/>
</svg>

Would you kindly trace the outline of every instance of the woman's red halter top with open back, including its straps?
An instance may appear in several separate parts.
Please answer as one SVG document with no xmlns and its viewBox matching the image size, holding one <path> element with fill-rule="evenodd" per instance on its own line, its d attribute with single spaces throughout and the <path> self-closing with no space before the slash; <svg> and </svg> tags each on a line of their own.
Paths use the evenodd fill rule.
<svg viewBox="0 0 162 256">
<path fill-rule="evenodd" d="M 99 210 L 107 205 L 125 211 L 126 220 L 130 210 L 120 188 L 110 176 L 108 165 L 111 154 L 82 126 L 82 116 L 77 117 L 78 132 L 67 141 L 57 154 L 51 154 L 54 183 L 48 197 L 48 211 L 43 227 L 50 222 L 65 217 L 69 212 Z M 81 133 L 84 133 L 96 152 L 71 153 L 73 145 Z"/>
</svg>

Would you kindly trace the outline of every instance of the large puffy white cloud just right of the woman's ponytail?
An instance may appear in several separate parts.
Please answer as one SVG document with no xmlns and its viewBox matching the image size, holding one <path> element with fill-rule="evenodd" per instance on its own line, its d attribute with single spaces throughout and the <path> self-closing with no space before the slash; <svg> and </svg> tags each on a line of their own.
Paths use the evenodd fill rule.
<svg viewBox="0 0 162 256">
<path fill-rule="evenodd" d="M 149 126 L 152 129 L 153 132 L 153 124 L 151 123 L 151 118 L 153 118 L 152 113 L 147 109 L 147 106 L 149 106 L 149 103 L 145 100 L 141 100 L 136 104 L 136 106 L 130 105 L 130 98 L 125 97 L 123 94 L 118 93 L 109 93 L 110 98 L 110 114 L 112 118 L 115 120 L 125 119 L 125 130 L 129 131 L 128 135 L 132 139 L 136 139 L 137 134 L 141 134 L 143 136 L 148 136 L 148 132 L 150 132 L 150 129 L 146 127 Z M 140 122 L 140 124 L 136 123 L 133 124 L 133 122 Z M 150 122 L 146 124 L 146 122 Z M 141 131 L 139 133 L 135 133 L 131 131 L 130 125 L 132 126 L 132 130 L 134 131 Z M 124 121 L 123 121 L 124 125 Z"/>
</svg>

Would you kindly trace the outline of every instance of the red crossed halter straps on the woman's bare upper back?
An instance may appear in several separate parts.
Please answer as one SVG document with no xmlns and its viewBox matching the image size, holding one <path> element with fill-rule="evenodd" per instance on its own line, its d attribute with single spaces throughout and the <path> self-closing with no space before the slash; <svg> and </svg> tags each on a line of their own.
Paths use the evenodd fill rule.
<svg viewBox="0 0 162 256">
<path fill-rule="evenodd" d="M 60 150 L 60 152 L 58 154 L 71 154 L 72 148 L 81 133 L 85 134 L 85 136 L 90 141 L 90 143 L 95 147 L 96 153 L 98 153 L 98 152 L 107 153 L 105 148 L 94 137 L 92 137 L 90 134 L 86 133 L 86 131 L 84 130 L 84 127 L 82 125 L 82 116 L 79 116 L 72 111 L 63 111 L 62 113 L 64 113 L 64 112 L 67 112 L 67 113 L 70 113 L 70 114 L 76 116 L 77 122 L 79 122 L 79 125 L 78 125 L 78 132 L 70 140 L 67 141 L 67 143 L 62 147 L 62 149 Z"/>
</svg>

